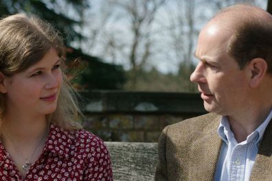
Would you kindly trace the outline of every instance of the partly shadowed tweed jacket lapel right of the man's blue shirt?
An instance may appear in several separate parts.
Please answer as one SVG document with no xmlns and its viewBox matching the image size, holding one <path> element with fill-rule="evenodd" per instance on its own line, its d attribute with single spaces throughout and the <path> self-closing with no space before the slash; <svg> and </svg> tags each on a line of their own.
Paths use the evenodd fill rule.
<svg viewBox="0 0 272 181">
<path fill-rule="evenodd" d="M 262 137 L 250 180 L 272 180 L 272 120 Z"/>
</svg>

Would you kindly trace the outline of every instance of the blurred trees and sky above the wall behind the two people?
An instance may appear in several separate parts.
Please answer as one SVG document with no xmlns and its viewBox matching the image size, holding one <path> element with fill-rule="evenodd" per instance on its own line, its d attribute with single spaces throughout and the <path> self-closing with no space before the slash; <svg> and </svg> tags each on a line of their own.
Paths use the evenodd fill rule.
<svg viewBox="0 0 272 181">
<path fill-rule="evenodd" d="M 78 90 L 196 92 L 197 35 L 221 8 L 265 0 L 1 0 L 0 15 L 37 14 L 65 38 Z"/>
</svg>

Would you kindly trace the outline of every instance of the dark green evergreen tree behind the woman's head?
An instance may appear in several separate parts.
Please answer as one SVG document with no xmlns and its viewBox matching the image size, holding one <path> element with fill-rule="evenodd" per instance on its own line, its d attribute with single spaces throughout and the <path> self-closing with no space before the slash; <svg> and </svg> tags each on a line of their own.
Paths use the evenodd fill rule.
<svg viewBox="0 0 272 181">
<path fill-rule="evenodd" d="M 0 16 L 25 12 L 36 14 L 53 24 L 64 36 L 67 46 L 69 77 L 79 88 L 120 89 L 125 82 L 122 66 L 104 63 L 100 58 L 82 53 L 73 45 L 84 38 L 80 28 L 83 25 L 84 9 L 89 7 L 87 0 L 2 0 Z M 79 29 L 79 30 L 78 30 Z M 78 61 L 80 58 L 81 61 Z"/>
</svg>

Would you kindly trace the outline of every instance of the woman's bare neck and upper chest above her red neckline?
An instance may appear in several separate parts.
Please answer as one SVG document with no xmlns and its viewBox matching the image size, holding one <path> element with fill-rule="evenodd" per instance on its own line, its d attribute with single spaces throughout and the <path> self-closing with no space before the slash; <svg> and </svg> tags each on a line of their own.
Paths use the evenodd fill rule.
<svg viewBox="0 0 272 181">
<path fill-rule="evenodd" d="M 4 117 L 1 125 L 1 142 L 10 154 L 16 168 L 25 178 L 30 165 L 38 159 L 49 133 L 45 117 Z"/>
</svg>

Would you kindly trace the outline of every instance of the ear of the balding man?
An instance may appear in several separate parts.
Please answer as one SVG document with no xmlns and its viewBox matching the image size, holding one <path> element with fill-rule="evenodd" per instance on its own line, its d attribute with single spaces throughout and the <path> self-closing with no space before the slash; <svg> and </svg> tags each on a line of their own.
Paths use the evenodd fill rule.
<svg viewBox="0 0 272 181">
<path fill-rule="evenodd" d="M 247 65 L 250 71 L 250 86 L 258 87 L 264 75 L 267 73 L 267 62 L 262 58 L 254 58 Z"/>
</svg>

